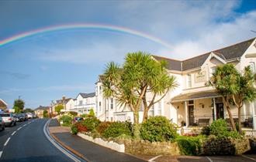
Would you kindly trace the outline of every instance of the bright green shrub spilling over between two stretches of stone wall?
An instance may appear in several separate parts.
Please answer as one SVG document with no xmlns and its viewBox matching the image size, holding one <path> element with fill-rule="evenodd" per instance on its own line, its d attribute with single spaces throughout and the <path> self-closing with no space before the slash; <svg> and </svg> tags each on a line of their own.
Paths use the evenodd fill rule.
<svg viewBox="0 0 256 162">
<path fill-rule="evenodd" d="M 177 138 L 178 148 L 181 154 L 185 155 L 199 155 L 202 152 L 202 141 L 205 137 L 183 137 Z"/>
</svg>

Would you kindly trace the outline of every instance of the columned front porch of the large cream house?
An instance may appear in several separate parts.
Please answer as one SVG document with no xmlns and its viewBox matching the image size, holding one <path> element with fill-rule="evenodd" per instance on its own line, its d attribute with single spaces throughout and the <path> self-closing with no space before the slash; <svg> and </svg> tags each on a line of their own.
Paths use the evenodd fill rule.
<svg viewBox="0 0 256 162">
<path fill-rule="evenodd" d="M 171 100 L 171 105 L 177 110 L 176 122 L 180 127 L 203 127 L 218 119 L 225 119 L 230 124 L 223 99 L 213 90 L 175 96 Z M 231 106 L 231 113 L 237 122 L 237 108 Z M 241 113 L 242 127 L 253 129 L 254 104 L 244 104 Z"/>
</svg>

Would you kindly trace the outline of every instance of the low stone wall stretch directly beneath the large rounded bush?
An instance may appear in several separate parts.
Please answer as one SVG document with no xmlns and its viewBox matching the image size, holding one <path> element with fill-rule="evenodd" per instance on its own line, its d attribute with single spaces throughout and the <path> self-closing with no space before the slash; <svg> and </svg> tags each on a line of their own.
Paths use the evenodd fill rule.
<svg viewBox="0 0 256 162">
<path fill-rule="evenodd" d="M 123 140 L 126 153 L 130 154 L 148 154 L 148 155 L 178 155 L 179 149 L 177 143 L 171 142 L 153 142 L 146 140 Z"/>
</svg>

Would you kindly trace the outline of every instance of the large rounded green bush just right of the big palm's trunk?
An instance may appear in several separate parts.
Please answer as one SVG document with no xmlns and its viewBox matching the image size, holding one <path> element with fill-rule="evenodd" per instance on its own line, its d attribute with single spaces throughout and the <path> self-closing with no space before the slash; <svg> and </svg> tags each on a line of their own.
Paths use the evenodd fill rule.
<svg viewBox="0 0 256 162">
<path fill-rule="evenodd" d="M 177 136 L 174 125 L 164 116 L 150 117 L 140 128 L 140 137 L 150 142 L 173 141 Z"/>
</svg>

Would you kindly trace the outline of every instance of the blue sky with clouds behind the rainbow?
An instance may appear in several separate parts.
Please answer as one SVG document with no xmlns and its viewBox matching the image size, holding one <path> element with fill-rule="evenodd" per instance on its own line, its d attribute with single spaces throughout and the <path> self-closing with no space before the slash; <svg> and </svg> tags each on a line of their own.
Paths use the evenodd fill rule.
<svg viewBox="0 0 256 162">
<path fill-rule="evenodd" d="M 24 32 L 74 24 L 125 30 L 62 29 L 1 46 Z M 9 108 L 19 96 L 26 107 L 47 106 L 62 96 L 94 92 L 107 62 L 121 64 L 127 52 L 188 59 L 256 37 L 251 30 L 256 31 L 254 0 L 1 0 L 0 98 Z"/>
</svg>

